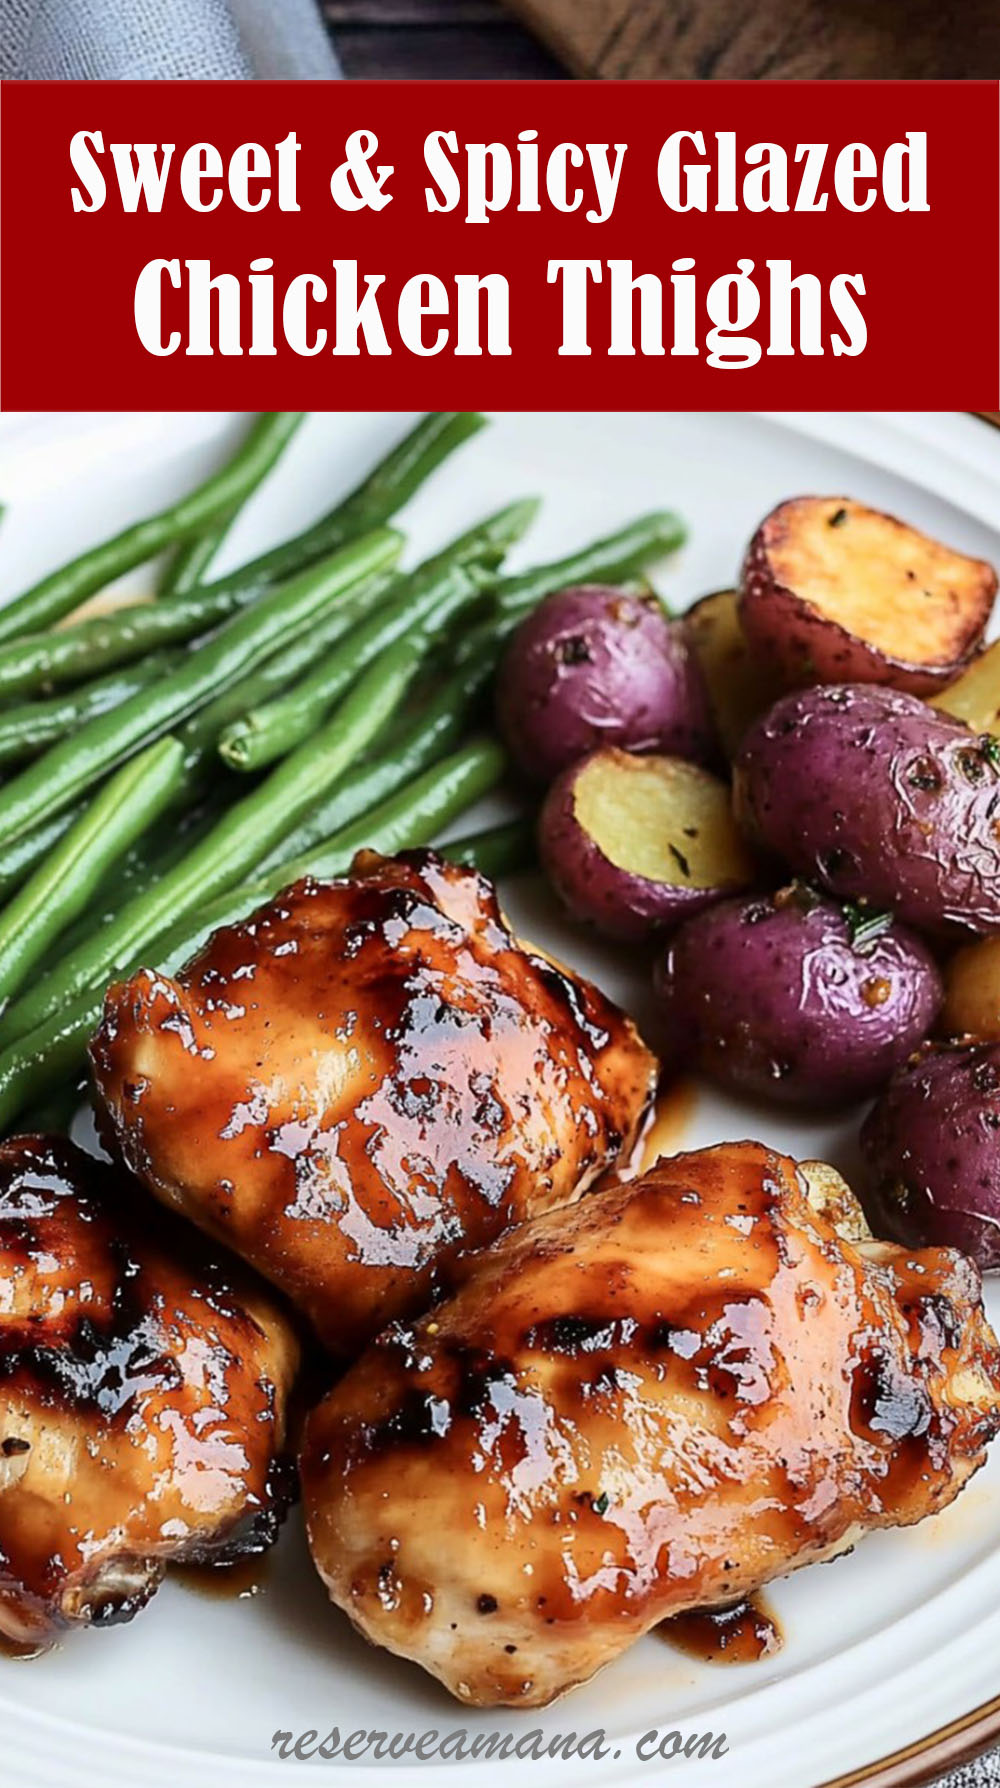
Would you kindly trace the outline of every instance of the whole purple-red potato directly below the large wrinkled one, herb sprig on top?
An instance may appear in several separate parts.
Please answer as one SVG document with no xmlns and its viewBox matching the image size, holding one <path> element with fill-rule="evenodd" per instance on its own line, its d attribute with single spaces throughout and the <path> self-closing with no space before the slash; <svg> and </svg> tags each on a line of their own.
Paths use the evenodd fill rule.
<svg viewBox="0 0 1000 1788">
<path fill-rule="evenodd" d="M 843 907 L 807 890 L 726 899 L 689 919 L 657 967 L 667 1050 L 782 1105 L 878 1091 L 927 1037 L 941 978 L 902 926 L 853 946 Z"/>
</svg>

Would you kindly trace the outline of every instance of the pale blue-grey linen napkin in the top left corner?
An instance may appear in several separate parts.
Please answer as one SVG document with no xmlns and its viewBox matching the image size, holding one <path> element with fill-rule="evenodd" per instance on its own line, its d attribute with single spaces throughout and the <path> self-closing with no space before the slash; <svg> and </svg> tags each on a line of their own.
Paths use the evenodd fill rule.
<svg viewBox="0 0 1000 1788">
<path fill-rule="evenodd" d="M 315 0 L 0 0 L 4 80 L 329 80 Z"/>
</svg>

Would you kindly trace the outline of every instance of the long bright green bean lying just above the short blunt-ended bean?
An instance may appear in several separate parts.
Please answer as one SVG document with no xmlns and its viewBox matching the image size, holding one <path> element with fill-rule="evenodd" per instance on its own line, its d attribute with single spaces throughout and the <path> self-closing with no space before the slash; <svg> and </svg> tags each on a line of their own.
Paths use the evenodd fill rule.
<svg viewBox="0 0 1000 1788">
<path fill-rule="evenodd" d="M 52 746 L 0 790 L 0 846 L 68 806 L 138 746 L 170 731 L 234 678 L 263 663 L 283 640 L 306 633 L 358 583 L 385 570 L 401 545 L 403 536 L 395 529 L 374 529 L 299 578 L 277 585 L 163 678 L 159 688 L 140 690 L 120 708 L 88 721 L 72 738 Z"/>
</svg>

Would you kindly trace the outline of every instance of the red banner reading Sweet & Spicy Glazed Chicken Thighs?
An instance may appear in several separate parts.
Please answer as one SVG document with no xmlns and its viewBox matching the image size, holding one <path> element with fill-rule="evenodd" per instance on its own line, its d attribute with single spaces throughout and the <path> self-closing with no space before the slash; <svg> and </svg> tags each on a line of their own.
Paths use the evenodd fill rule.
<svg viewBox="0 0 1000 1788">
<path fill-rule="evenodd" d="M 7 408 L 1000 404 L 995 82 L 4 89 Z"/>
</svg>

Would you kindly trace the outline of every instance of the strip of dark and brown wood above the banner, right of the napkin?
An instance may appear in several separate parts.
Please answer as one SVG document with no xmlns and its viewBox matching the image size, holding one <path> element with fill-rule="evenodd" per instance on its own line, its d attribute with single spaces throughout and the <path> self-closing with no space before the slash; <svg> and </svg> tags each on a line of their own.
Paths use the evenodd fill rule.
<svg viewBox="0 0 1000 1788">
<path fill-rule="evenodd" d="M 540 80 L 567 70 L 614 80 L 1000 77 L 1000 0 L 320 4 L 352 77 Z"/>
</svg>

